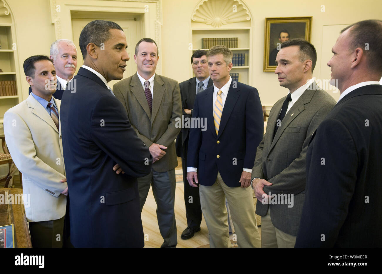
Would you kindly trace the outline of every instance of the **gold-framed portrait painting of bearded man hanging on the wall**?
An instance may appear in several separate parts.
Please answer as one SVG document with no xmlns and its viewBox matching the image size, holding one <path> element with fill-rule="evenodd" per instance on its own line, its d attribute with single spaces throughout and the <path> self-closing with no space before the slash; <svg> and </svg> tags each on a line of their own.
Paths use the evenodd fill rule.
<svg viewBox="0 0 382 274">
<path fill-rule="evenodd" d="M 282 42 L 301 38 L 310 42 L 312 17 L 265 18 L 264 71 L 276 70 Z"/>
</svg>

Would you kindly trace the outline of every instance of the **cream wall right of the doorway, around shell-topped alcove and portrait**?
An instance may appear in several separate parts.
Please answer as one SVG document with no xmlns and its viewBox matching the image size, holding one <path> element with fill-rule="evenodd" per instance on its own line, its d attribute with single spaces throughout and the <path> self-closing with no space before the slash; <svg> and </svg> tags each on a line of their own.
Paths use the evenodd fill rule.
<svg viewBox="0 0 382 274">
<path fill-rule="evenodd" d="M 190 43 L 191 14 L 199 0 L 163 0 L 162 27 L 162 62 L 163 75 L 185 81 L 191 77 Z M 251 14 L 253 24 L 253 75 L 252 85 L 259 90 L 263 105 L 273 105 L 288 90 L 279 86 L 274 72 L 264 72 L 264 28 L 267 17 L 312 16 L 311 42 L 317 50 L 317 64 L 313 76 L 317 79 L 326 77 L 330 68 L 325 66 L 321 71 L 321 52 L 331 52 L 331 47 L 321 49 L 324 25 L 351 24 L 364 19 L 382 19 L 382 1 L 380 0 L 244 0 Z M 237 4 L 237 3 L 236 3 Z M 321 12 L 325 5 L 325 12 Z M 329 60 L 323 60 L 327 62 Z M 321 76 L 322 75 L 322 76 Z M 329 73 L 330 75 L 330 73 Z M 335 99 L 339 93 L 329 92 Z"/>
</svg>

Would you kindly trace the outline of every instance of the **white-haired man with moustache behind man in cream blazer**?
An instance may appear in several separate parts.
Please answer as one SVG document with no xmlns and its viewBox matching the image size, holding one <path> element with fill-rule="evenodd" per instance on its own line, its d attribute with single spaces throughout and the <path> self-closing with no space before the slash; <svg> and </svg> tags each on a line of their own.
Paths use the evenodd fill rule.
<svg viewBox="0 0 382 274">
<path fill-rule="evenodd" d="M 59 39 L 50 45 L 50 59 L 56 69 L 57 88 L 53 96 L 61 100 L 63 92 L 68 89 L 74 91 L 75 82 L 71 82 L 77 68 L 77 49 L 73 41 Z M 29 94 L 32 89 L 29 87 Z"/>
</svg>

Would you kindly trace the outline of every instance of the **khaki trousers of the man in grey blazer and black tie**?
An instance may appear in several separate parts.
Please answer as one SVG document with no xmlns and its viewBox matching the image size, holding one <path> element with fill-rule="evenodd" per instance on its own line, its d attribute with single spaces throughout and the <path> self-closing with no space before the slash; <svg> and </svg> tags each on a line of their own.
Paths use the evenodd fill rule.
<svg viewBox="0 0 382 274">
<path fill-rule="evenodd" d="M 270 219 L 270 210 L 267 215 L 261 217 L 261 247 L 262 248 L 293 248 L 296 236 L 290 235 L 277 229 Z"/>
</svg>

